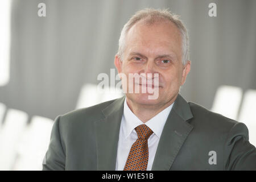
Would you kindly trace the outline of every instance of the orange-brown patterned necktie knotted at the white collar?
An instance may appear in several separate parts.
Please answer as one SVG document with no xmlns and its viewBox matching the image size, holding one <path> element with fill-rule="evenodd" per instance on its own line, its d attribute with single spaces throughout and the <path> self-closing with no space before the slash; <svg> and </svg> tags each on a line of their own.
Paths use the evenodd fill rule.
<svg viewBox="0 0 256 182">
<path fill-rule="evenodd" d="M 148 145 L 147 139 L 153 131 L 147 125 L 135 127 L 138 139 L 131 146 L 125 168 L 123 171 L 146 171 L 148 163 Z"/>
</svg>

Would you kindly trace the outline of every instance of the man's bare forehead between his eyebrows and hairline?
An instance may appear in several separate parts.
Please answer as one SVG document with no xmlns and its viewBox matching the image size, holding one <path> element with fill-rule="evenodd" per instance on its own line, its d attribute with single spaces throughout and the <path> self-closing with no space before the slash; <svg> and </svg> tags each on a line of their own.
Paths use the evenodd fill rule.
<svg viewBox="0 0 256 182">
<path fill-rule="evenodd" d="M 127 32 L 126 50 L 150 55 L 175 53 L 182 55 L 182 38 L 179 29 L 169 20 L 148 24 L 138 22 Z"/>
</svg>

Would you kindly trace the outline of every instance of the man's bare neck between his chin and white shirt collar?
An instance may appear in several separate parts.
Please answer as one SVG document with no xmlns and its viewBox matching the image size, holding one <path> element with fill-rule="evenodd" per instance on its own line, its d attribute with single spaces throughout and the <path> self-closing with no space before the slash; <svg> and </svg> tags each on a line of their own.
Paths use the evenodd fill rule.
<svg viewBox="0 0 256 182">
<path fill-rule="evenodd" d="M 153 118 L 155 115 L 166 109 L 176 100 L 177 95 L 172 97 L 168 102 L 158 105 L 143 105 L 138 104 L 126 97 L 127 105 L 131 111 L 139 118 L 143 123 Z"/>
</svg>

